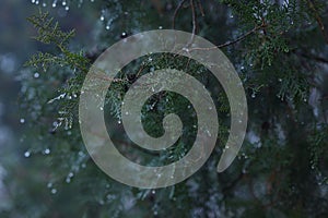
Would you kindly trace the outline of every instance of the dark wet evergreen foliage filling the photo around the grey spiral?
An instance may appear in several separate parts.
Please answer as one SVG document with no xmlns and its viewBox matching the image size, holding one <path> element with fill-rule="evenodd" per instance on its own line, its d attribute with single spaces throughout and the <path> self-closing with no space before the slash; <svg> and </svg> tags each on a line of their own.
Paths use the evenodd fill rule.
<svg viewBox="0 0 328 218">
<path fill-rule="evenodd" d="M 3 0 L 0 17 L 1 217 L 328 216 L 325 0 Z M 140 58 L 117 75 L 102 109 L 121 153 L 161 165 L 190 148 L 195 110 L 172 93 L 151 98 L 142 118 L 151 135 L 161 135 L 163 114 L 181 117 L 185 140 L 171 149 L 134 149 L 121 126 L 125 92 L 138 76 L 167 65 L 190 72 L 211 92 L 220 133 L 210 159 L 186 181 L 129 187 L 87 155 L 77 120 L 79 92 L 104 49 L 136 33 L 173 27 L 199 34 L 230 58 L 247 94 L 247 137 L 219 174 L 230 126 L 220 84 L 181 57 Z"/>
</svg>

